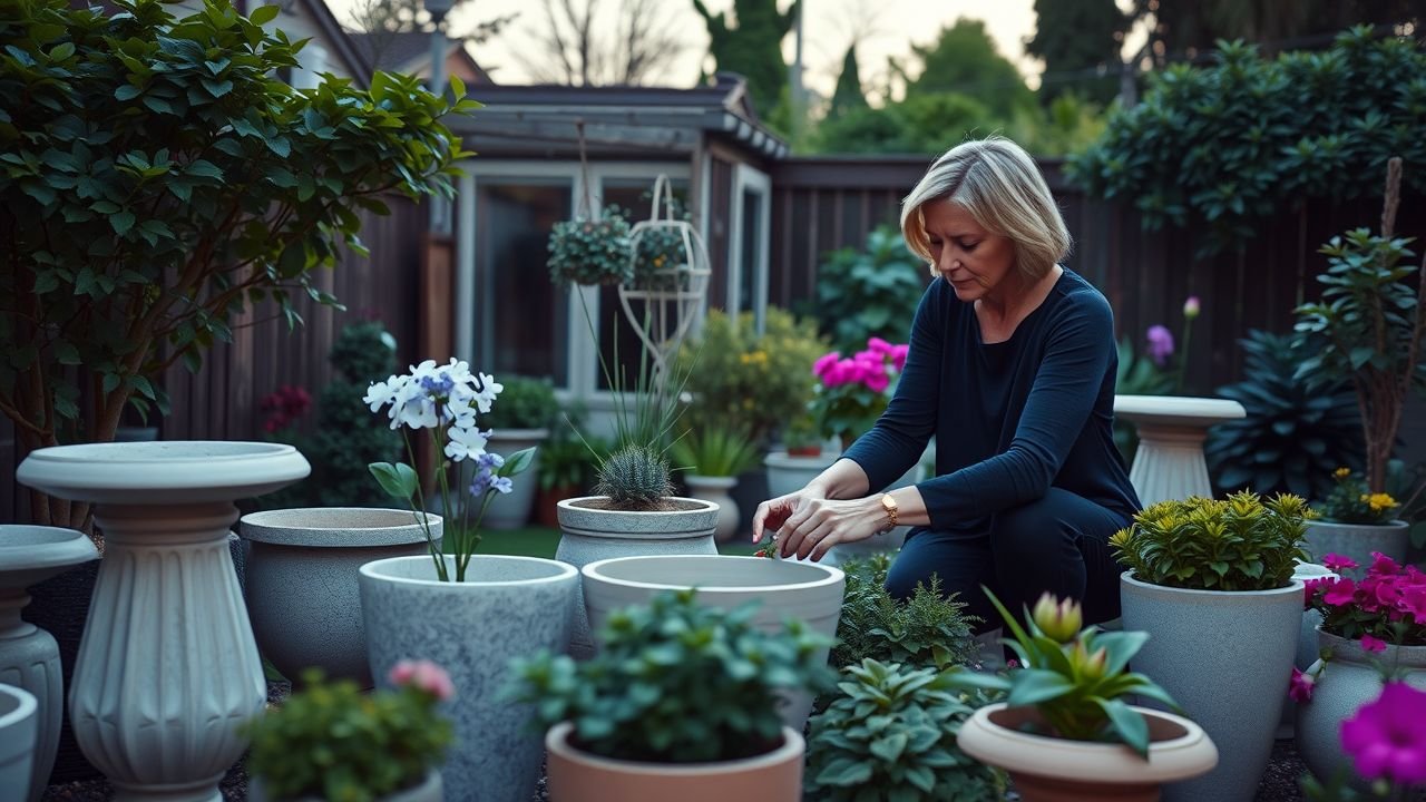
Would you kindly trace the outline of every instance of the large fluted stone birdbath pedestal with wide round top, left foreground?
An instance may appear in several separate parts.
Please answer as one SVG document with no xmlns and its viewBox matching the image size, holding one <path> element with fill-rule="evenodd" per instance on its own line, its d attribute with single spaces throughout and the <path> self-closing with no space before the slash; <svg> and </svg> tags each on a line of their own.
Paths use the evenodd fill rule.
<svg viewBox="0 0 1426 802">
<path fill-rule="evenodd" d="M 275 442 L 106 442 L 31 452 L 21 484 L 91 501 L 104 559 L 70 686 L 84 756 L 121 802 L 217 802 L 267 681 L 228 551 L 234 501 L 311 471 Z"/>
</svg>

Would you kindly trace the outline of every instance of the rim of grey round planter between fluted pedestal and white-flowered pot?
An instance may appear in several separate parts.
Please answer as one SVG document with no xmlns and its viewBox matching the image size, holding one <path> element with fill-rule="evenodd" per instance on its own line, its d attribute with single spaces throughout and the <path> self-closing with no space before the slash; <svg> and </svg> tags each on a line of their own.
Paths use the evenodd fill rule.
<svg viewBox="0 0 1426 802">
<path fill-rule="evenodd" d="M 388 515 L 392 524 L 352 525 L 344 517 Z M 406 522 L 395 522 L 405 519 Z M 441 539 L 445 521 L 441 515 L 426 512 L 432 537 Z M 295 507 L 289 509 L 264 509 L 240 518 L 242 539 L 289 547 L 322 548 L 372 548 L 384 545 L 409 545 L 426 542 L 425 528 L 416 521 L 416 514 L 394 507 Z M 349 532 L 359 531 L 351 537 Z M 344 535 L 347 534 L 347 535 Z"/>
</svg>

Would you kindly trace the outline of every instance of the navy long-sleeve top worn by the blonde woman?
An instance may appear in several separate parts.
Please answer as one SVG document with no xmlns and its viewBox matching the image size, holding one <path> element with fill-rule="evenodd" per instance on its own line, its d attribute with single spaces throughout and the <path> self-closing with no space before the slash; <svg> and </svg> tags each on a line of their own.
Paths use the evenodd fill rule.
<svg viewBox="0 0 1426 802">
<path fill-rule="evenodd" d="M 974 305 L 935 280 L 910 345 L 886 412 L 844 454 L 871 491 L 911 468 L 934 434 L 935 477 L 915 485 L 933 529 L 985 532 L 991 515 L 1051 487 L 1125 524 L 1139 509 L 1114 445 L 1114 314 L 1082 277 L 1065 270 L 1004 342 L 983 342 Z"/>
</svg>

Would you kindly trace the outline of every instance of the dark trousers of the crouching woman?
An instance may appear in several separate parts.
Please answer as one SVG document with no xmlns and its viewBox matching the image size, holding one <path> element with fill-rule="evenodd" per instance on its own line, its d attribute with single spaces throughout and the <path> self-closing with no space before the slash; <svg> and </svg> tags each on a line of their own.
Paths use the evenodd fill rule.
<svg viewBox="0 0 1426 802">
<path fill-rule="evenodd" d="M 1114 561 L 1108 539 L 1125 525 L 1128 521 L 1117 512 L 1050 488 L 1038 501 L 991 517 L 984 534 L 911 531 L 887 574 L 887 589 L 904 599 L 917 584 L 930 585 L 935 574 L 941 592 L 958 594 L 965 612 L 980 618 L 977 634 L 1002 625 L 981 585 L 1017 616 L 1050 591 L 1079 599 L 1084 622 L 1101 624 L 1119 616 L 1124 569 Z"/>
</svg>

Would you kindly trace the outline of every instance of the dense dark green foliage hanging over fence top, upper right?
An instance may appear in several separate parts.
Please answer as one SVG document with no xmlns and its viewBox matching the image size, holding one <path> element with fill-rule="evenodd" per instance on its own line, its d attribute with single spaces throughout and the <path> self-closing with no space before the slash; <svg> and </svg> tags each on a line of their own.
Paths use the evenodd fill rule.
<svg viewBox="0 0 1426 802">
<path fill-rule="evenodd" d="M 1387 157 L 1426 188 L 1426 51 L 1410 40 L 1340 34 L 1322 53 L 1265 60 L 1221 43 L 1206 67 L 1171 66 L 1067 174 L 1097 198 L 1139 210 L 1147 230 L 1202 225 L 1202 254 L 1261 234 L 1259 221 L 1308 198 L 1359 197 Z"/>
</svg>

